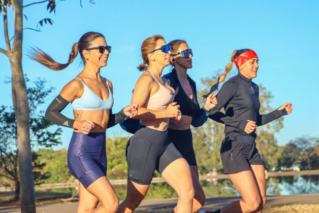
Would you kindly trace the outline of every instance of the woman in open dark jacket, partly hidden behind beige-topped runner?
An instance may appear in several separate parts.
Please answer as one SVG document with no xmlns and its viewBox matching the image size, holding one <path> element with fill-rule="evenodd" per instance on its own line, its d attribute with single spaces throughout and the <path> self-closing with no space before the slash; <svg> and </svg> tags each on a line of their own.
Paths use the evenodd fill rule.
<svg viewBox="0 0 319 213">
<path fill-rule="evenodd" d="M 193 52 L 189 48 L 185 40 L 173 40 L 169 42 L 171 46 L 171 64 L 173 69 L 170 73 L 163 77 L 167 79 L 175 89 L 174 101 L 180 105 L 182 112 L 181 122 L 170 120 L 168 127 L 168 138 L 174 143 L 177 150 L 183 155 L 191 167 L 192 181 L 195 190 L 193 199 L 193 210 L 195 213 L 200 210 L 205 204 L 205 194 L 199 183 L 198 167 L 194 148 L 192 145 L 191 125 L 199 127 L 205 123 L 210 109 L 217 105 L 215 95 L 211 93 L 205 105 L 200 108 L 197 101 L 196 83 L 187 74 L 188 69 L 192 68 Z M 217 111 L 210 115 L 212 119 L 217 122 L 236 126 L 240 124 L 239 121 L 232 121 L 230 117 L 224 113 Z"/>
</svg>

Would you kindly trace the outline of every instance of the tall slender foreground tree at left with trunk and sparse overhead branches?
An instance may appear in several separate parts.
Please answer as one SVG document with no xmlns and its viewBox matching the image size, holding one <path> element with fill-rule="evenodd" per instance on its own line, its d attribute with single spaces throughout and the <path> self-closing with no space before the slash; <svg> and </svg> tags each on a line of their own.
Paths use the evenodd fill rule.
<svg viewBox="0 0 319 213">
<path fill-rule="evenodd" d="M 90 0 L 90 3 L 95 3 Z M 55 12 L 55 0 L 42 0 L 23 5 L 23 0 L 0 0 L 0 14 L 3 15 L 3 28 L 6 49 L 0 48 L 0 53 L 6 55 L 11 65 L 11 88 L 12 88 L 12 101 L 13 109 L 17 122 L 17 141 L 18 141 L 18 156 L 19 156 L 19 172 L 20 172 L 20 188 L 21 194 L 21 212 L 33 213 L 35 212 L 35 199 L 33 187 L 33 174 L 32 174 L 32 154 L 30 144 L 30 124 L 29 124 L 29 104 L 26 81 L 22 70 L 22 41 L 23 30 L 40 31 L 43 24 L 53 24 L 49 18 L 41 19 L 37 28 L 24 28 L 23 8 L 32 6 L 34 4 L 47 3 L 47 10 L 49 13 Z M 80 0 L 80 4 L 82 0 Z M 9 38 L 7 9 L 12 6 L 14 10 L 14 36 Z M 82 4 L 81 4 L 82 6 Z M 11 40 L 13 43 L 11 45 Z"/>
</svg>

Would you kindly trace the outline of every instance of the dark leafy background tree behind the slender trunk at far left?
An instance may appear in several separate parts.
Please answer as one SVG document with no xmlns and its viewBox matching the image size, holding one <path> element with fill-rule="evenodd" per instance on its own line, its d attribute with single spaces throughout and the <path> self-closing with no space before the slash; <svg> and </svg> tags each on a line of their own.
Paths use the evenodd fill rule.
<svg viewBox="0 0 319 213">
<path fill-rule="evenodd" d="M 29 79 L 26 78 L 26 81 L 28 82 Z M 62 133 L 62 129 L 49 130 L 48 128 L 55 124 L 46 120 L 44 118 L 44 111 L 39 109 L 54 88 L 46 88 L 46 81 L 40 78 L 33 83 L 34 86 L 28 88 L 31 147 L 51 147 L 61 144 L 59 136 Z M 0 106 L 0 132 L 2 133 L 2 137 L 0 137 L 0 177 L 4 177 L 12 183 L 11 185 L 15 188 L 14 199 L 18 200 L 22 177 L 19 175 L 20 161 L 18 161 L 18 156 L 20 147 L 18 146 L 16 119 L 12 106 Z M 42 183 L 45 178 L 49 177 L 48 173 L 43 172 L 45 164 L 39 162 L 36 152 L 32 152 L 32 166 L 33 178 L 36 184 Z"/>
</svg>

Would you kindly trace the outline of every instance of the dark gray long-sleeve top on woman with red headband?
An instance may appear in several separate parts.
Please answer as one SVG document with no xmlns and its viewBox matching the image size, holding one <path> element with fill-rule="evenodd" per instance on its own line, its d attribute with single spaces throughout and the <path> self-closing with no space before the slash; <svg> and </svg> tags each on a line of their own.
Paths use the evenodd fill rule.
<svg viewBox="0 0 319 213">
<path fill-rule="evenodd" d="M 247 120 L 256 122 L 257 126 L 267 124 L 283 115 L 287 115 L 286 109 L 274 110 L 268 114 L 259 114 L 259 87 L 252 82 L 252 79 L 246 78 L 240 72 L 226 81 L 217 94 L 218 104 L 210 110 L 212 114 L 222 108 L 225 114 L 231 117 L 233 125 L 225 125 L 225 134 L 236 132 L 241 135 L 248 135 L 244 129 Z M 212 116 L 209 118 L 213 119 Z M 231 121 L 228 120 L 228 123 Z M 255 131 L 250 134 L 256 137 Z"/>
</svg>

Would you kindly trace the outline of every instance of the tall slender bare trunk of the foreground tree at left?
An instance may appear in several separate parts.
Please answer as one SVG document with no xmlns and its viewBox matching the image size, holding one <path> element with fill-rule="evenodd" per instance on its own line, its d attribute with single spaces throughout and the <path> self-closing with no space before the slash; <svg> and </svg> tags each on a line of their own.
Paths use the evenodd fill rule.
<svg viewBox="0 0 319 213">
<path fill-rule="evenodd" d="M 12 71 L 12 98 L 17 118 L 21 213 L 35 213 L 30 121 L 27 87 L 22 71 L 23 4 L 13 0 L 14 41 L 9 55 Z"/>
</svg>

